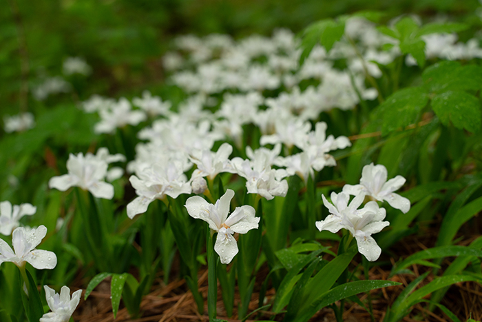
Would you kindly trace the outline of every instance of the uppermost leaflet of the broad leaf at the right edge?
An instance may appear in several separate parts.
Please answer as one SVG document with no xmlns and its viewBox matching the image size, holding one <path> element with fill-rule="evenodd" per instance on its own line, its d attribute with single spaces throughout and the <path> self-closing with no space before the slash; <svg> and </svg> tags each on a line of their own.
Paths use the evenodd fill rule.
<svg viewBox="0 0 482 322">
<path fill-rule="evenodd" d="M 482 67 L 461 66 L 458 61 L 441 61 L 426 68 L 422 79 L 429 92 L 478 90 L 482 88 Z"/>
</svg>

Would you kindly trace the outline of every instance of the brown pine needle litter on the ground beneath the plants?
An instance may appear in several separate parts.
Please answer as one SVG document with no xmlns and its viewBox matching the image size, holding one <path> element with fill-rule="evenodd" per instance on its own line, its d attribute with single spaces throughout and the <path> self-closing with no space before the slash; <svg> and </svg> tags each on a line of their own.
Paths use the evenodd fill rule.
<svg viewBox="0 0 482 322">
<path fill-rule="evenodd" d="M 438 228 L 428 228 L 423 234 L 418 236 L 410 236 L 397 243 L 393 248 L 394 254 L 399 254 L 400 257 L 406 258 L 410 254 L 419 252 L 426 248 L 434 247 L 434 241 L 437 238 Z M 478 236 L 464 237 L 459 241 L 459 245 L 468 245 Z M 337 245 L 333 245 L 336 248 Z M 332 249 L 333 249 L 332 248 Z M 359 257 L 355 257 L 359 259 Z M 386 257 L 381 258 L 381 261 L 390 261 L 395 263 L 398 260 L 395 258 Z M 445 259 L 442 263 L 442 268 L 446 268 L 453 258 Z M 353 261 L 353 265 L 358 263 Z M 176 267 L 174 267 L 175 269 Z M 378 290 L 370 291 L 371 303 L 373 305 L 373 318 L 375 321 L 383 321 L 388 307 L 397 299 L 397 296 L 411 281 L 417 278 L 420 274 L 423 274 L 428 268 L 421 265 L 412 265 L 410 268 L 415 274 L 398 274 L 389 278 L 391 265 L 387 266 L 374 266 L 370 269 L 370 280 L 381 279 L 400 282 L 401 285 L 392 286 L 389 288 L 382 288 Z M 258 272 L 257 281 L 262 281 L 268 272 L 268 268 L 264 267 Z M 173 271 L 173 276 L 176 276 L 176 270 Z M 169 284 L 163 283 L 163 276 L 158 276 L 154 282 L 154 286 L 149 294 L 143 297 L 143 301 L 140 305 L 141 316 L 138 319 L 131 319 L 127 309 L 123 307 L 121 301 L 121 307 L 118 311 L 116 319 L 112 314 L 112 307 L 110 303 L 110 281 L 106 280 L 94 290 L 87 299 L 87 301 L 81 301 L 78 309 L 74 313 L 74 320 L 79 322 L 195 322 L 195 321 L 209 321 L 207 316 L 207 268 L 201 268 L 198 285 L 199 290 L 205 298 L 205 314 L 198 313 L 196 301 L 184 279 L 173 279 Z M 420 288 L 432 281 L 434 276 L 430 273 L 422 283 L 418 286 Z M 80 282 L 80 281 L 79 281 Z M 253 296 L 251 296 L 251 302 L 249 303 L 249 312 L 259 308 L 259 285 L 255 287 Z M 78 288 L 77 288 L 78 289 Z M 74 290 L 76 290 L 74 288 Z M 275 296 L 275 290 L 273 288 L 266 292 L 266 303 L 270 303 Z M 362 303 L 366 303 L 368 307 L 368 294 L 358 294 Z M 428 297 L 427 299 L 430 299 Z M 266 301 L 266 300 L 265 300 Z M 220 286 L 218 285 L 218 319 L 224 319 L 229 322 L 241 321 L 237 319 L 237 305 L 240 303 L 240 297 L 238 292 L 235 292 L 235 305 L 233 310 L 233 316 L 228 317 L 224 310 L 224 304 L 222 302 L 222 294 Z M 337 303 L 339 305 L 339 303 Z M 456 314 L 461 321 L 467 321 L 472 318 L 476 321 L 482 319 L 482 287 L 479 283 L 463 282 L 457 283 L 450 287 L 446 293 L 445 298 L 441 301 L 441 304 L 445 305 L 450 311 Z M 372 317 L 357 303 L 351 301 L 345 302 L 344 321 L 360 321 L 371 322 Z M 262 306 L 262 305 L 261 305 Z M 259 311 L 249 316 L 250 321 L 268 320 L 273 318 L 273 312 Z M 282 321 L 283 314 L 277 314 L 273 321 Z M 336 321 L 333 310 L 330 308 L 324 308 L 317 312 L 310 321 L 322 321 L 322 322 L 334 322 Z M 428 310 L 426 303 L 419 303 L 412 308 L 410 314 L 404 317 L 402 321 L 434 321 L 434 322 L 450 322 L 451 320 L 436 309 L 433 312 Z"/>
</svg>

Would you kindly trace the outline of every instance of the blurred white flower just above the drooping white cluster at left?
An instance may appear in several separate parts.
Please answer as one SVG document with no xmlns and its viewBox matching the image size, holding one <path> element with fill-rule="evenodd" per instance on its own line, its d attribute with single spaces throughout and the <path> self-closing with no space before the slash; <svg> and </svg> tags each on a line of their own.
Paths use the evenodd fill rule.
<svg viewBox="0 0 482 322">
<path fill-rule="evenodd" d="M 109 108 L 99 111 L 101 121 L 94 127 L 96 133 L 112 133 L 116 128 L 123 126 L 138 125 L 145 121 L 146 115 L 140 110 L 132 110 L 131 103 L 125 98 L 119 99 L 118 103 L 112 104 Z"/>
</svg>

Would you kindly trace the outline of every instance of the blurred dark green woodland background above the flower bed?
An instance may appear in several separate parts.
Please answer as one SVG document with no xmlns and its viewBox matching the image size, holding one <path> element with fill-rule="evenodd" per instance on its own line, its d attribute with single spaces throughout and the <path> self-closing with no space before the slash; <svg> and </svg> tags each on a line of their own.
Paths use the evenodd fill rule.
<svg viewBox="0 0 482 322">
<path fill-rule="evenodd" d="M 424 18 L 463 19 L 476 0 L 3 0 L 0 10 L 0 117 L 17 114 L 21 99 L 43 77 L 61 74 L 67 57 L 83 57 L 93 68 L 80 97 L 140 94 L 163 82 L 160 57 L 178 34 L 213 32 L 235 38 L 275 28 L 300 32 L 325 17 L 382 10 L 387 17 L 415 13 Z M 23 64 L 23 66 L 22 66 Z M 22 72 L 23 70 L 23 72 Z M 69 80 L 72 81 L 72 80 Z M 74 81 L 74 85 L 75 81 Z M 25 87 L 25 86 L 24 86 Z M 39 103 L 28 95 L 30 110 Z M 0 134 L 1 136 L 1 134 Z"/>
</svg>

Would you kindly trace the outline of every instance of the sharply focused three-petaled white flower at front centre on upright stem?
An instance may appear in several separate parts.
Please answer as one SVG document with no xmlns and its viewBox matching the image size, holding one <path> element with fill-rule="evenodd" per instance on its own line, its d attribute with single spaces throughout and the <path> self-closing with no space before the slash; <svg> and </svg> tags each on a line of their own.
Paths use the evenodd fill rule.
<svg viewBox="0 0 482 322">
<path fill-rule="evenodd" d="M 228 217 L 229 205 L 234 197 L 231 189 L 216 201 L 213 205 L 202 197 L 190 197 L 185 207 L 189 215 L 196 219 L 202 219 L 209 223 L 209 228 L 218 232 L 214 250 L 218 253 L 223 264 L 229 264 L 238 254 L 238 243 L 233 234 L 246 234 L 249 230 L 258 228 L 259 217 L 255 217 L 255 210 L 251 205 L 237 207 Z"/>
</svg>

